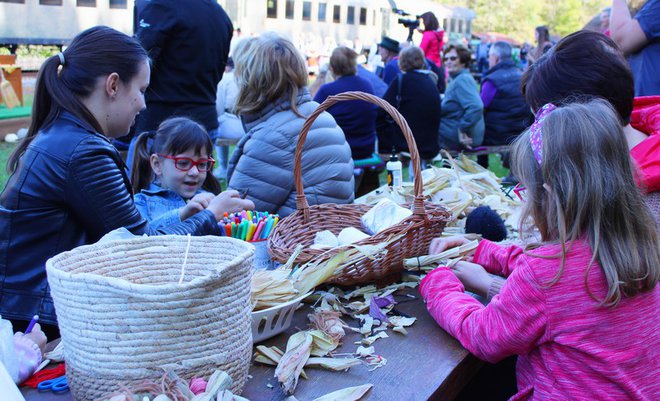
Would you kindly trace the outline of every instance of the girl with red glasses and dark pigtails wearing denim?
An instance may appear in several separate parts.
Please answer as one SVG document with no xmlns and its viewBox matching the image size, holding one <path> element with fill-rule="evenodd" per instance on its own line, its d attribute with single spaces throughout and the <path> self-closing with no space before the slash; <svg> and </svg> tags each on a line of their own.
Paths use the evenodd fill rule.
<svg viewBox="0 0 660 401">
<path fill-rule="evenodd" d="M 140 135 L 132 168 L 135 206 L 152 226 L 166 227 L 207 208 L 229 211 L 226 206 L 237 202 L 254 208 L 236 191 L 220 193 L 212 153 L 206 130 L 188 118 L 170 118 L 158 131 Z"/>
</svg>

